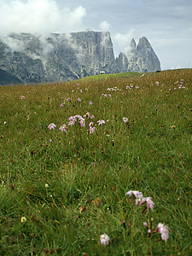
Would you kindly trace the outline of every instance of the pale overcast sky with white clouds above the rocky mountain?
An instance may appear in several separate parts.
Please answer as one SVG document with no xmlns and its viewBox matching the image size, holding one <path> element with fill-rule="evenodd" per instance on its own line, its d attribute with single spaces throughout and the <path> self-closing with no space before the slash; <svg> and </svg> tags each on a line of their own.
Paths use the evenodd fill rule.
<svg viewBox="0 0 192 256">
<path fill-rule="evenodd" d="M 0 0 L 0 35 L 85 29 L 110 32 L 115 55 L 146 37 L 161 69 L 192 67 L 192 0 Z"/>
</svg>

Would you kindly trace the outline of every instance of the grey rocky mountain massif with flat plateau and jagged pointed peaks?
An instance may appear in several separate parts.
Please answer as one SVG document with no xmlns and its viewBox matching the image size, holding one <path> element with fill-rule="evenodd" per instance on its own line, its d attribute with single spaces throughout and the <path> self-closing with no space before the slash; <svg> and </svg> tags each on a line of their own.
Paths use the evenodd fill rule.
<svg viewBox="0 0 192 256">
<path fill-rule="evenodd" d="M 0 68 L 22 83 L 69 81 L 85 76 L 160 70 L 147 38 L 115 58 L 109 32 L 72 32 L 43 36 L 20 33 L 0 38 Z"/>
</svg>

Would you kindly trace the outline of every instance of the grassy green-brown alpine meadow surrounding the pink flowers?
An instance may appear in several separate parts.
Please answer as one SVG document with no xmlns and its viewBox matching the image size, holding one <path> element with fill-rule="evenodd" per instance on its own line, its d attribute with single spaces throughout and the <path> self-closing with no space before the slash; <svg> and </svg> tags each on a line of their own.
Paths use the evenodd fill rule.
<svg viewBox="0 0 192 256">
<path fill-rule="evenodd" d="M 0 255 L 191 255 L 191 84 L 183 69 L 0 87 Z"/>
</svg>

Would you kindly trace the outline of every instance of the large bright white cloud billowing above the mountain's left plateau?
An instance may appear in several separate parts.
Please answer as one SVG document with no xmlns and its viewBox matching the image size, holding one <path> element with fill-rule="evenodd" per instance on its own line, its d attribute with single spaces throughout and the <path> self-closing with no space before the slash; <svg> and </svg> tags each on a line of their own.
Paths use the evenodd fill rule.
<svg viewBox="0 0 192 256">
<path fill-rule="evenodd" d="M 0 0 L 0 33 L 77 32 L 83 28 L 86 9 L 60 9 L 55 0 Z"/>
</svg>

